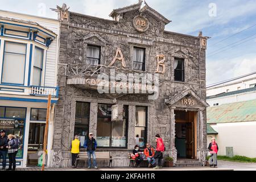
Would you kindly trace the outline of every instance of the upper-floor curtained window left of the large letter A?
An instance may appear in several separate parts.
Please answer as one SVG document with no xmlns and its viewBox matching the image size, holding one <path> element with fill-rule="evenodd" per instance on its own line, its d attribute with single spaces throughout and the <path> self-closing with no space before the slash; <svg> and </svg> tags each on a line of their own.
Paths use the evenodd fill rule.
<svg viewBox="0 0 256 182">
<path fill-rule="evenodd" d="M 100 53 L 101 53 L 100 47 L 87 46 L 86 64 L 89 64 L 89 65 L 101 64 Z"/>
</svg>

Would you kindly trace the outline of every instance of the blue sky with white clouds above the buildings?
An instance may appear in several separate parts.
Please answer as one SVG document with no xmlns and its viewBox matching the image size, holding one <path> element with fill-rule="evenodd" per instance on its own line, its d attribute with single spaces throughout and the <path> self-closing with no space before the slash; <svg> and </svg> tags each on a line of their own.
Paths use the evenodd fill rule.
<svg viewBox="0 0 256 182">
<path fill-rule="evenodd" d="M 256 71 L 255 0 L 146 0 L 172 20 L 166 30 L 209 36 L 207 85 Z M 57 18 L 50 8 L 66 3 L 70 11 L 111 19 L 110 12 L 138 0 L 0 0 L 0 9 Z"/>
</svg>

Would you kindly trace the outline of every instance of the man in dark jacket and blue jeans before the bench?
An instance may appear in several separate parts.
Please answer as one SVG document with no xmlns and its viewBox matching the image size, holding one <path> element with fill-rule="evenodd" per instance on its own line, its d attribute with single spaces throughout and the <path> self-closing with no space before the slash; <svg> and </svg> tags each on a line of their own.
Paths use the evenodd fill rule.
<svg viewBox="0 0 256 182">
<path fill-rule="evenodd" d="M 90 162 L 91 155 L 93 156 L 93 167 L 94 169 L 98 169 L 97 162 L 96 162 L 96 155 L 95 155 L 97 142 L 96 142 L 96 139 L 93 138 L 92 133 L 89 133 L 89 138 L 85 140 L 84 148 L 87 150 L 87 155 L 88 155 L 88 169 L 92 167 L 92 163 Z"/>
</svg>

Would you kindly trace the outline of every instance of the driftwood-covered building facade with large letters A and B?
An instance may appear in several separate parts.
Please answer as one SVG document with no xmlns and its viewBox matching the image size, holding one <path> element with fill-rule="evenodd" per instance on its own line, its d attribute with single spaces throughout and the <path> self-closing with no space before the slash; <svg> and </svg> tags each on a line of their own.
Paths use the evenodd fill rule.
<svg viewBox="0 0 256 182">
<path fill-rule="evenodd" d="M 61 20 L 59 102 L 50 166 L 71 166 L 74 135 L 83 144 L 90 132 L 97 151 L 111 152 L 114 167 L 129 166 L 135 144 L 155 147 L 155 134 L 163 138 L 164 156 L 172 156 L 174 165 L 184 158 L 205 165 L 207 37 L 165 31 L 171 21 L 144 2 L 113 10 L 113 20 L 73 13 L 66 5 L 55 11 Z M 98 92 L 98 76 L 113 78 L 113 70 L 157 75 L 158 97 Z M 128 81 L 117 79 L 114 85 L 120 82 L 129 88 Z"/>
</svg>

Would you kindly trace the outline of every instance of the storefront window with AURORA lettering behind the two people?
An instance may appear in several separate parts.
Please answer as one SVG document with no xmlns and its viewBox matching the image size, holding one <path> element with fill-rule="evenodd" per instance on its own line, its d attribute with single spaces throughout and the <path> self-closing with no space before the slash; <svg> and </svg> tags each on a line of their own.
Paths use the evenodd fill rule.
<svg viewBox="0 0 256 182">
<path fill-rule="evenodd" d="M 23 157 L 23 136 L 26 122 L 26 108 L 0 107 L 0 129 L 6 131 L 6 135 L 13 134 L 20 140 L 20 148 L 16 158 Z"/>
</svg>

